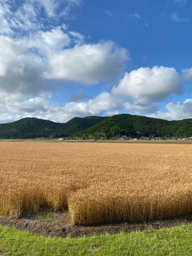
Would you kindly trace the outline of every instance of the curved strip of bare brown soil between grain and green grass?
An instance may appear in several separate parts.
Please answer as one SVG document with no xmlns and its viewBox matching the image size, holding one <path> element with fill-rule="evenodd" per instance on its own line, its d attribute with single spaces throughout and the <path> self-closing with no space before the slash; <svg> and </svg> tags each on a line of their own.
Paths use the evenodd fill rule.
<svg viewBox="0 0 192 256">
<path fill-rule="evenodd" d="M 173 218 L 156 220 L 129 221 L 103 223 L 89 226 L 73 225 L 68 212 L 54 212 L 53 210 L 40 209 L 39 212 L 23 213 L 18 219 L 0 216 L 2 226 L 15 227 L 20 231 L 29 231 L 45 237 L 79 238 L 100 234 L 118 234 L 123 231 L 142 231 L 147 228 L 160 229 L 192 223 L 192 213 Z"/>
</svg>

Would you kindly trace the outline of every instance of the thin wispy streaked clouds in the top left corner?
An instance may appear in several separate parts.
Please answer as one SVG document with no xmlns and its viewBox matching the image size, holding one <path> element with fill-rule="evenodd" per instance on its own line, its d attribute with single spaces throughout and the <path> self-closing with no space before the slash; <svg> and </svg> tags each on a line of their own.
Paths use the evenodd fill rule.
<svg viewBox="0 0 192 256">
<path fill-rule="evenodd" d="M 0 33 L 15 34 L 17 37 L 23 32 L 29 33 L 30 31 L 29 34 L 31 34 L 32 31 L 43 29 L 45 21 L 47 27 L 52 26 L 53 19 L 58 20 L 61 16 L 69 18 L 71 8 L 81 3 L 81 0 L 22 0 L 16 2 L 15 0 L 1 0 Z M 42 16 L 42 9 L 45 11 L 44 16 Z"/>
</svg>

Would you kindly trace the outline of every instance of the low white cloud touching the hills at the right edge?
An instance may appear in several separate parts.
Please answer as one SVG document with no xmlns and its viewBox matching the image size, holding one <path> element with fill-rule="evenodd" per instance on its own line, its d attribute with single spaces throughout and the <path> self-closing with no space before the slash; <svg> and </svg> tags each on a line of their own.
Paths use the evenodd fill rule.
<svg viewBox="0 0 192 256">
<path fill-rule="evenodd" d="M 165 113 L 158 111 L 148 116 L 166 120 L 192 118 L 192 99 L 187 99 L 184 102 L 170 102 L 165 108 L 167 109 Z"/>
</svg>

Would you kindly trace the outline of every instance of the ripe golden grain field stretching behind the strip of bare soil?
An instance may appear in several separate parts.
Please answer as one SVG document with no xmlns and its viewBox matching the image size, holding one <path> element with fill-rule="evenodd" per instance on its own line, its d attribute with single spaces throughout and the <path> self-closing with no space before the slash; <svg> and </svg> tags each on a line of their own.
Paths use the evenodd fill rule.
<svg viewBox="0 0 192 256">
<path fill-rule="evenodd" d="M 192 145 L 0 143 L 0 214 L 69 209 L 74 224 L 192 212 Z"/>
</svg>

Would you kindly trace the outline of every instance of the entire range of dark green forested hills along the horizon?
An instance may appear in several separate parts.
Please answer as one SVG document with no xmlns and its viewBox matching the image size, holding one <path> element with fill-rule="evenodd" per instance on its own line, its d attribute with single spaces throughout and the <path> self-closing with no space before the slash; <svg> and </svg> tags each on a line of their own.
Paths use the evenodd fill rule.
<svg viewBox="0 0 192 256">
<path fill-rule="evenodd" d="M 52 135 L 52 137 L 51 137 Z M 167 121 L 140 115 L 120 114 L 111 117 L 75 117 L 67 123 L 26 117 L 13 123 L 0 124 L 0 138 L 35 137 L 119 137 L 127 136 L 192 136 L 192 119 Z"/>
</svg>

